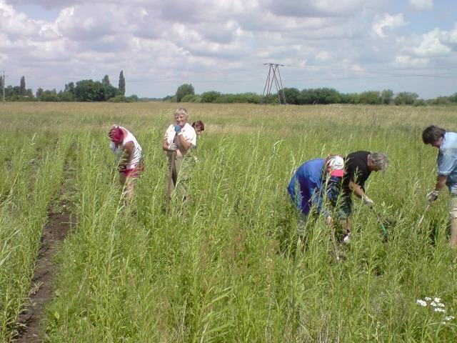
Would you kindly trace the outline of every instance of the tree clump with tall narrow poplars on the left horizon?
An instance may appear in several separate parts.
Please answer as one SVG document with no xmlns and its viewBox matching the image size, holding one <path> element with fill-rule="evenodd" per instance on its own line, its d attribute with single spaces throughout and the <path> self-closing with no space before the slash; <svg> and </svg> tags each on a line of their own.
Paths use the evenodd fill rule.
<svg viewBox="0 0 457 343">
<path fill-rule="evenodd" d="M 105 75 L 101 81 L 91 79 L 69 82 L 61 91 L 56 89 L 39 88 L 34 94 L 31 89 L 26 88 L 25 76 L 21 76 L 19 86 L 5 86 L 4 79 L 0 76 L 0 91 L 4 89 L 6 101 L 111 101 L 111 102 L 133 102 L 138 101 L 138 96 L 125 96 L 126 79 L 124 71 L 119 73 L 118 87 L 111 85 L 109 76 Z M 0 96 L 3 96 L 0 93 Z"/>
</svg>

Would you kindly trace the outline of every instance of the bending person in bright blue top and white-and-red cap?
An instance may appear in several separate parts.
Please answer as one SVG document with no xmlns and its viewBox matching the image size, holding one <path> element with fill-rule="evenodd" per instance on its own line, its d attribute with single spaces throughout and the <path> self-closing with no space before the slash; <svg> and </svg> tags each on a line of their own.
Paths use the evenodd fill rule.
<svg viewBox="0 0 457 343">
<path fill-rule="evenodd" d="M 344 159 L 333 155 L 324 159 L 311 159 L 298 167 L 288 183 L 287 192 L 293 204 L 300 212 L 298 235 L 303 234 L 303 227 L 311 212 L 323 212 L 328 225 L 332 225 L 330 212 L 325 208 L 326 199 L 336 205 L 341 189 L 344 171 Z"/>
</svg>

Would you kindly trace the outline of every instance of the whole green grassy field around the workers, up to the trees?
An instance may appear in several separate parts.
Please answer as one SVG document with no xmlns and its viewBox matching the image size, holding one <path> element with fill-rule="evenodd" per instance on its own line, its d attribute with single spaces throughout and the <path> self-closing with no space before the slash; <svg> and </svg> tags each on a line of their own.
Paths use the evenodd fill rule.
<svg viewBox="0 0 457 343">
<path fill-rule="evenodd" d="M 46 342 L 455 342 L 447 192 L 417 222 L 436 178 L 437 151 L 421 131 L 457 131 L 456 107 L 184 106 L 206 131 L 189 206 L 175 201 L 165 213 L 161 141 L 176 104 L 1 104 L 2 341 L 60 192 L 78 224 L 56 259 Z M 145 154 L 134 214 L 121 206 L 106 139 L 113 123 L 134 132 Z M 303 252 L 291 174 L 307 159 L 361 149 L 391 161 L 367 184 L 391 239 L 356 206 L 343 262 L 323 220 L 308 227 Z"/>
</svg>

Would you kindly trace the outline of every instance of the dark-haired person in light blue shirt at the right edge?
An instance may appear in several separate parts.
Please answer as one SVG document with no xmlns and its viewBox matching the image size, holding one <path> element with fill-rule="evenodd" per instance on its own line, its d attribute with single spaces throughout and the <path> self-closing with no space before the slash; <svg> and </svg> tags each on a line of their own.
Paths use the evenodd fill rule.
<svg viewBox="0 0 457 343">
<path fill-rule="evenodd" d="M 457 247 L 457 133 L 446 132 L 438 126 L 428 126 L 422 132 L 424 144 L 430 144 L 438 149 L 438 166 L 435 188 L 428 193 L 429 204 L 438 198 L 441 189 L 446 186 L 451 193 L 449 204 L 449 227 L 451 229 L 451 240 L 449 245 Z"/>
</svg>

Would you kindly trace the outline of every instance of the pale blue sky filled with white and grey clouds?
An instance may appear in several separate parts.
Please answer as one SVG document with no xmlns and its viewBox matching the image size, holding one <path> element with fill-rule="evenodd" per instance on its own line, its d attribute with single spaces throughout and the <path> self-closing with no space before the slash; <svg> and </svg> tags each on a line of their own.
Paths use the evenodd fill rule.
<svg viewBox="0 0 457 343">
<path fill-rule="evenodd" d="M 0 72 L 36 91 L 70 81 L 164 97 L 181 84 L 457 92 L 455 0 L 0 0 Z M 273 91 L 276 91 L 273 85 Z"/>
</svg>

